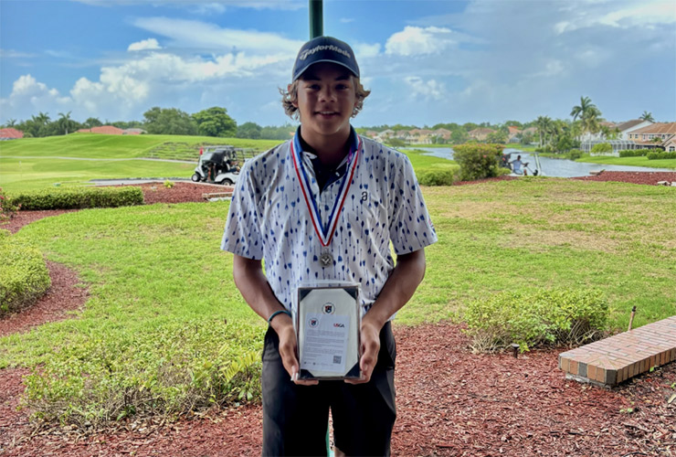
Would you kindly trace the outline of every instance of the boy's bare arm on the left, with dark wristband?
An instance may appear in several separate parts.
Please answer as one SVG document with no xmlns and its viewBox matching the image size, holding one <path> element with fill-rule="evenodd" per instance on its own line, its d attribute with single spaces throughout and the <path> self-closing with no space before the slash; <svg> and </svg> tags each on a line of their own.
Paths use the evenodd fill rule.
<svg viewBox="0 0 676 457">
<path fill-rule="evenodd" d="M 260 260 L 247 259 L 235 255 L 233 261 L 233 277 L 242 297 L 252 310 L 260 317 L 268 320 L 275 311 L 284 310 L 284 306 L 277 300 L 274 292 L 269 287 L 268 279 L 263 274 Z M 277 335 L 280 337 L 281 363 L 293 379 L 299 372 L 298 358 L 296 357 L 296 332 L 293 330 L 293 322 L 287 314 L 278 314 L 270 322 Z M 311 385 L 318 381 L 296 381 L 296 384 Z"/>
</svg>

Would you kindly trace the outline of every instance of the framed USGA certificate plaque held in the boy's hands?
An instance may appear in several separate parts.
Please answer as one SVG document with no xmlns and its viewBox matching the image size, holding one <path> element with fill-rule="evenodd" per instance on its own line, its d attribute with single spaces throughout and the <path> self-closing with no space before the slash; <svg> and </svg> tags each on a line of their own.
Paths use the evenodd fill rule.
<svg viewBox="0 0 676 457">
<path fill-rule="evenodd" d="M 361 376 L 359 311 L 358 285 L 298 288 L 299 379 Z"/>
</svg>

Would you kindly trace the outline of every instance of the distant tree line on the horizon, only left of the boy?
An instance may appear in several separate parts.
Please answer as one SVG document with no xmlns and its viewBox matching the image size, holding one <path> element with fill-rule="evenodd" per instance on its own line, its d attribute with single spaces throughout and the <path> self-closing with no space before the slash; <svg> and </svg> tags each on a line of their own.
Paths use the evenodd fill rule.
<svg viewBox="0 0 676 457">
<path fill-rule="evenodd" d="M 252 138 L 266 140 L 286 140 L 295 127 L 286 123 L 282 126 L 261 126 L 256 122 L 244 122 L 238 125 L 222 107 L 214 106 L 200 112 L 188 114 L 177 108 L 160 108 L 155 106 L 143 113 L 143 121 L 101 122 L 90 117 L 85 122 L 78 122 L 70 117 L 70 112 L 59 112 L 57 119 L 52 119 L 48 112 L 38 112 L 30 119 L 17 122 L 8 120 L 3 127 L 15 128 L 24 133 L 24 137 L 45 137 L 67 135 L 80 129 L 91 129 L 101 125 L 112 125 L 120 129 L 143 129 L 153 134 L 201 135 L 226 138 Z"/>
</svg>

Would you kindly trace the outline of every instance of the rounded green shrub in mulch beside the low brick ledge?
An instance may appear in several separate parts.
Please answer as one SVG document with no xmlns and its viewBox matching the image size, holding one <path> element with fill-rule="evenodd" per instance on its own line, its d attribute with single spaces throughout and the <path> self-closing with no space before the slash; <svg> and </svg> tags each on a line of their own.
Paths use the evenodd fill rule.
<svg viewBox="0 0 676 457">
<path fill-rule="evenodd" d="M 603 335 L 608 306 L 601 292 L 548 290 L 502 292 L 470 303 L 465 314 L 472 348 L 479 352 L 512 343 L 580 345 Z"/>
</svg>

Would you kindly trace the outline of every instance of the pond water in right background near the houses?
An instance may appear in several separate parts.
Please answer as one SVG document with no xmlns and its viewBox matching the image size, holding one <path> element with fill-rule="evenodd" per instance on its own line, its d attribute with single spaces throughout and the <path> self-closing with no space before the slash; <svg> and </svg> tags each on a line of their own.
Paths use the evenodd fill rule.
<svg viewBox="0 0 676 457">
<path fill-rule="evenodd" d="M 442 157 L 444 159 L 453 158 L 453 150 L 449 147 L 426 147 L 428 155 L 434 155 L 435 157 Z M 521 154 L 521 160 L 523 163 L 528 163 L 529 170 L 535 169 L 535 161 L 533 159 L 533 154 L 524 153 L 518 149 L 505 148 L 505 153 L 517 153 Z M 512 158 L 516 158 L 512 155 Z M 663 172 L 674 171 L 671 168 L 649 168 L 647 166 L 625 166 L 625 165 L 606 165 L 606 164 L 586 164 L 585 162 L 575 162 L 573 160 L 566 159 L 552 159 L 549 157 L 540 157 L 540 165 L 542 166 L 542 175 L 543 176 L 555 176 L 555 177 L 574 177 L 574 176 L 586 176 L 589 175 L 589 172 L 606 170 L 606 171 L 642 171 L 642 172 Z M 531 172 L 532 174 L 532 172 Z"/>
</svg>

